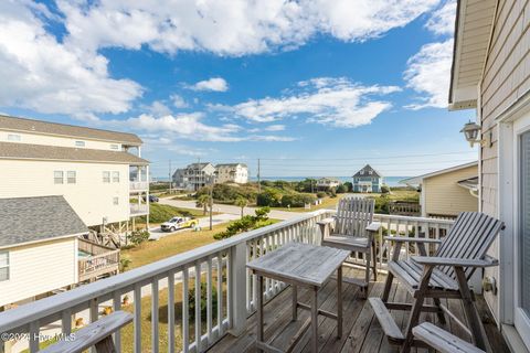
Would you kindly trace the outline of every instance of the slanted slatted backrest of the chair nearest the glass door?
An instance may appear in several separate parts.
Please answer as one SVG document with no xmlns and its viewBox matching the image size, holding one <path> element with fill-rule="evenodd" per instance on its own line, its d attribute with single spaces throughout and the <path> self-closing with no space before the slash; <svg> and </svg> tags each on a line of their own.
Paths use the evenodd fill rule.
<svg viewBox="0 0 530 353">
<path fill-rule="evenodd" d="M 479 212 L 463 212 L 436 252 L 436 257 L 484 259 L 491 243 L 502 227 L 502 222 Z M 453 266 L 438 267 L 456 281 Z M 476 267 L 465 269 L 469 279 Z"/>
</svg>

